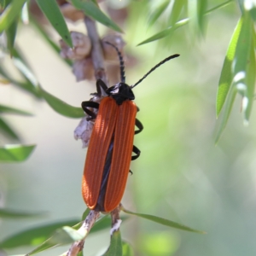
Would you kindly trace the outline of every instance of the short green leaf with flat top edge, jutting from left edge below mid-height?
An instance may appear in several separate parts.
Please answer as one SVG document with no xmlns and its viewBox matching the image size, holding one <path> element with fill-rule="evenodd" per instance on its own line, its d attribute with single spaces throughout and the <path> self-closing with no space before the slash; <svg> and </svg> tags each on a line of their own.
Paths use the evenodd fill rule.
<svg viewBox="0 0 256 256">
<path fill-rule="evenodd" d="M 0 148 L 0 161 L 20 162 L 26 160 L 32 154 L 35 145 L 5 145 Z"/>
</svg>

